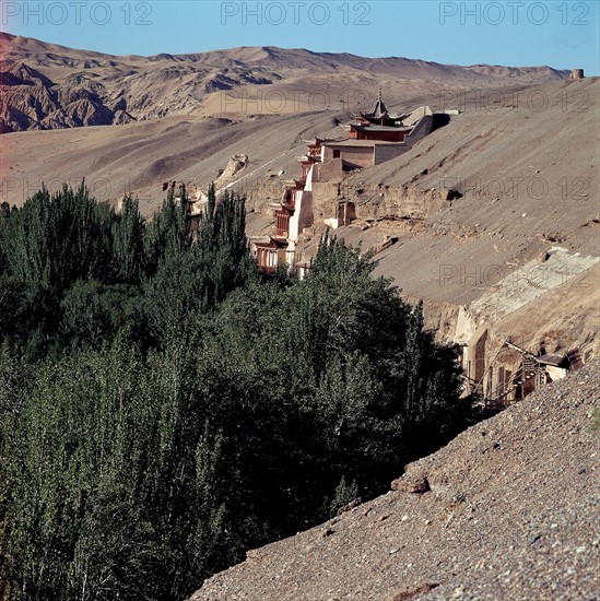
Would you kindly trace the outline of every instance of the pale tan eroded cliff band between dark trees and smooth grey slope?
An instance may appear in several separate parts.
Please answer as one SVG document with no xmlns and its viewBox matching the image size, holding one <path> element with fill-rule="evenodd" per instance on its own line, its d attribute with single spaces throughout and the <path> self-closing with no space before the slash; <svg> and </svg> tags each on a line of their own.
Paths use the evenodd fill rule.
<svg viewBox="0 0 600 601">
<path fill-rule="evenodd" d="M 502 396 L 507 402 L 531 392 L 544 378 L 519 384 L 526 355 L 518 349 L 532 355 L 560 356 L 578 349 L 586 362 L 600 354 L 598 256 L 546 240 L 546 250 L 532 258 L 511 259 L 507 254 L 501 262 L 492 255 L 496 262 L 485 266 L 477 247 L 469 248 L 484 237 L 478 227 L 444 225 L 439 231 L 431 223 L 430 217 L 460 202 L 449 200 L 452 190 L 345 182 L 331 185 L 329 190 L 330 197 L 315 193 L 315 222 L 321 224 L 305 228 L 296 258 L 310 260 L 326 231 L 322 222 L 340 203 L 352 199 L 354 221 L 332 233 L 375 252 L 380 260 L 378 274 L 391 272 L 400 279 L 412 273 L 414 284 L 402 295 L 412 304 L 423 300 L 426 329 L 434 331 L 438 341 L 460 347 L 467 392 L 477 391 L 487 399 Z M 593 227 L 593 220 L 591 223 L 587 227 Z M 424 266 L 438 260 L 430 252 L 432 244 L 440 240 L 447 248 L 439 250 L 438 270 L 432 271 L 430 264 L 427 271 Z M 410 245 L 416 245 L 417 251 L 404 255 L 402 247 Z M 452 248 L 461 249 L 459 263 L 444 259 Z M 452 282 L 457 279 L 461 280 L 458 285 Z"/>
</svg>

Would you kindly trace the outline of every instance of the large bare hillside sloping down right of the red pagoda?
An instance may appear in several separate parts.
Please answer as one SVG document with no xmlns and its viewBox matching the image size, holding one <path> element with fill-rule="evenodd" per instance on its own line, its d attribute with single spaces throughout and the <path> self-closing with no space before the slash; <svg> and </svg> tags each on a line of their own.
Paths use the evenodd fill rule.
<svg viewBox="0 0 600 601">
<path fill-rule="evenodd" d="M 425 299 L 428 326 L 448 341 L 467 342 L 485 320 L 498 343 L 598 355 L 600 80 L 498 99 L 466 104 L 411 151 L 351 175 L 341 196 L 369 228 L 338 233 L 363 247 L 396 235 L 379 273 Z"/>
</svg>

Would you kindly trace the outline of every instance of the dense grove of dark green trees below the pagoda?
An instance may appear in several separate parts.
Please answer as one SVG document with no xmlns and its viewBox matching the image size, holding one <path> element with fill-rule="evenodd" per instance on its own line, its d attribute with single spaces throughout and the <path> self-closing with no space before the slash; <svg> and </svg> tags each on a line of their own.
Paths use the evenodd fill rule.
<svg viewBox="0 0 600 601">
<path fill-rule="evenodd" d="M 471 423 L 456 350 L 368 256 L 326 236 L 269 276 L 245 215 L 1 207 L 0 598 L 185 599 Z"/>
</svg>

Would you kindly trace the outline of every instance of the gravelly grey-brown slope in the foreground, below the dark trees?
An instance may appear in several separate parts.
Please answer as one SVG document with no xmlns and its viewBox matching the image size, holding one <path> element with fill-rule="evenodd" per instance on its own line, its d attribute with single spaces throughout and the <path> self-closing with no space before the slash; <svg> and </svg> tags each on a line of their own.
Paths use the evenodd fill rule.
<svg viewBox="0 0 600 601">
<path fill-rule="evenodd" d="M 407 468 L 387 495 L 249 551 L 193 601 L 597 599 L 600 363 Z"/>
</svg>

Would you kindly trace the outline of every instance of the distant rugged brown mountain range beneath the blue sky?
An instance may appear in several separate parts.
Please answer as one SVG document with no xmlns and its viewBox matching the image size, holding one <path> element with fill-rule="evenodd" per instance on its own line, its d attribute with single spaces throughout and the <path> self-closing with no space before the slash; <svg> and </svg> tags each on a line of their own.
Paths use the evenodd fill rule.
<svg viewBox="0 0 600 601">
<path fill-rule="evenodd" d="M 400 99 L 565 76 L 549 67 L 457 67 L 274 47 L 117 57 L 0 33 L 0 133 L 176 114 L 357 109 L 381 83 Z"/>
</svg>

